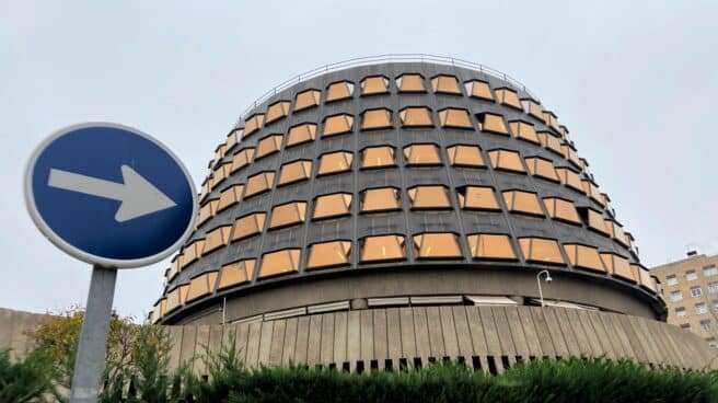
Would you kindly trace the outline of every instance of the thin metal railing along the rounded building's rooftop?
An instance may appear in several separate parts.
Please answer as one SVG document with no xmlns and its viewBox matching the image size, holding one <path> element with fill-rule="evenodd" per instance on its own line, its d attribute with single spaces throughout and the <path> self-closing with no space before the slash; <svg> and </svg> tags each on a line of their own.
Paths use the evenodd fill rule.
<svg viewBox="0 0 718 403">
<path fill-rule="evenodd" d="M 463 59 L 456 59 L 454 57 L 447 57 L 447 56 L 438 56 L 438 55 L 426 55 L 426 54 L 386 54 L 386 55 L 377 55 L 377 56 L 366 56 L 366 57 L 357 57 L 354 59 L 348 59 L 344 61 L 337 61 L 334 64 L 329 65 L 324 65 L 322 67 L 317 67 L 315 69 L 304 71 L 300 74 L 297 74 L 292 77 L 289 80 L 286 80 L 271 90 L 267 91 L 264 93 L 262 96 L 256 99 L 243 113 L 240 115 L 240 118 L 235 123 L 235 126 L 241 124 L 246 117 L 248 117 L 250 113 L 252 113 L 253 110 L 255 110 L 257 106 L 262 105 L 265 101 L 267 101 L 269 97 L 276 95 L 278 92 L 281 92 L 292 85 L 296 85 L 302 81 L 306 81 L 309 79 L 312 79 L 317 76 L 325 74 L 327 72 L 332 71 L 338 71 L 338 70 L 344 70 L 352 67 L 358 67 L 358 66 L 368 66 L 368 65 L 377 65 L 377 64 L 382 64 L 382 62 L 431 62 L 431 64 L 437 64 L 437 65 L 445 65 L 445 66 L 458 66 L 458 67 L 463 67 L 467 69 L 473 69 L 477 70 L 480 72 L 484 72 L 486 74 L 496 77 L 498 79 L 501 79 L 518 89 L 523 90 L 525 93 L 528 93 L 531 97 L 534 100 L 538 101 L 538 97 L 535 96 L 534 94 L 529 91 L 529 89 L 521 83 L 519 80 L 512 78 L 511 76 L 499 71 L 493 67 L 477 64 L 474 61 L 468 61 L 468 60 L 463 60 Z"/>
</svg>

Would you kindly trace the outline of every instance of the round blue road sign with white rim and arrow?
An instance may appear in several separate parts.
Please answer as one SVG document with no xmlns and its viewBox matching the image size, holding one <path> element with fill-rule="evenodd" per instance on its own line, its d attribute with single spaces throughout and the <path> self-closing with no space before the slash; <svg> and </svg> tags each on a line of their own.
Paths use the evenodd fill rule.
<svg viewBox="0 0 718 403">
<path fill-rule="evenodd" d="M 27 209 L 40 231 L 88 263 L 138 267 L 189 237 L 197 194 L 182 162 L 152 137 L 117 124 L 65 128 L 33 153 Z"/>
</svg>

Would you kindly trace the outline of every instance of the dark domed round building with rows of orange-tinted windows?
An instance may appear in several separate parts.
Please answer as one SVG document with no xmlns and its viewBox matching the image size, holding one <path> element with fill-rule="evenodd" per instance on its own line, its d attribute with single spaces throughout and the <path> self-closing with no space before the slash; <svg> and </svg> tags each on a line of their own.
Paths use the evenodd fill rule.
<svg viewBox="0 0 718 403">
<path fill-rule="evenodd" d="M 263 336 L 263 323 L 283 323 L 274 337 L 296 332 L 292 346 L 304 324 L 309 349 L 329 333 L 344 338 L 344 358 L 329 359 L 336 365 L 368 348 L 367 326 L 413 337 L 418 349 L 419 322 L 429 345 L 439 327 L 450 357 L 447 343 L 464 327 L 472 333 L 474 311 L 482 327 L 489 312 L 497 343 L 510 337 L 514 350 L 516 321 L 528 345 L 578 324 L 600 346 L 613 336 L 609 324 L 589 326 L 597 318 L 667 326 L 656 321 L 667 315 L 656 279 L 566 126 L 485 66 L 367 59 L 303 74 L 240 118 L 217 147 L 199 199 L 153 322 L 246 324 L 247 339 L 251 325 Z M 542 304 L 552 308 L 529 308 Z M 407 312 L 413 331 L 402 326 Z M 636 332 L 625 338 L 642 337 Z M 538 355 L 575 354 L 560 354 L 556 337 L 553 353 Z M 415 358 L 387 343 L 372 342 L 369 360 Z M 602 350 L 610 349 L 589 353 Z"/>
</svg>

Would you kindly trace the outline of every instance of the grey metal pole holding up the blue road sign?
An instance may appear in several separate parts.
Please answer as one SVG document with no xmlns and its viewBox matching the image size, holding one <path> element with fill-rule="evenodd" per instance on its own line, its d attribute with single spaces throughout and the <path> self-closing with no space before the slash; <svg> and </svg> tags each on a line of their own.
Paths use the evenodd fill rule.
<svg viewBox="0 0 718 403">
<path fill-rule="evenodd" d="M 109 316 L 115 297 L 116 267 L 92 267 L 88 306 L 74 360 L 70 403 L 95 403 L 105 365 Z"/>
</svg>

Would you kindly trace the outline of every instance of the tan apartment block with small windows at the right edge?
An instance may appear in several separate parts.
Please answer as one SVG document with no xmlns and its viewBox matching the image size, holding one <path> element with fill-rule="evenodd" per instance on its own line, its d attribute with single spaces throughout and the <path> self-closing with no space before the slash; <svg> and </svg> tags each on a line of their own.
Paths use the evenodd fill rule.
<svg viewBox="0 0 718 403">
<path fill-rule="evenodd" d="M 668 323 L 691 331 L 718 348 L 718 255 L 688 257 L 651 268 L 662 286 Z"/>
</svg>

